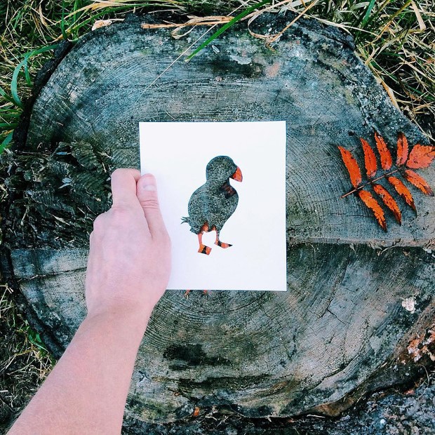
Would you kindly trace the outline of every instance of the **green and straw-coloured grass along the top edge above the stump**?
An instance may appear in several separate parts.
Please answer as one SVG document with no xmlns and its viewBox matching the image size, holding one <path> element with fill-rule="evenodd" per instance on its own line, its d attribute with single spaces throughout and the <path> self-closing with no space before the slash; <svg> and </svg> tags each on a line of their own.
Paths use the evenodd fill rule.
<svg viewBox="0 0 435 435">
<path fill-rule="evenodd" d="M 16 0 L 1 4 L 4 29 L 0 47 L 0 152 L 11 142 L 11 131 L 18 123 L 22 100 L 32 88 L 32 77 L 50 57 L 50 47 L 61 39 L 76 41 L 91 29 L 95 20 L 122 19 L 131 11 L 170 9 L 196 15 L 233 13 L 240 14 L 241 18 L 249 8 L 258 7 L 258 3 L 246 1 L 242 5 L 235 0 Z M 260 9 L 280 13 L 286 10 L 303 13 L 309 8 L 305 17 L 346 29 L 355 38 L 357 53 L 387 89 L 397 107 L 415 123 L 429 127 L 435 115 L 434 0 L 307 0 L 293 7 L 290 5 L 295 2 L 290 0 L 260 3 Z M 276 4 L 279 6 L 274 6 Z M 234 13 L 235 9 L 237 13 Z M 226 23 L 218 32 L 235 21 Z M 431 136 L 429 128 L 425 133 Z"/>
</svg>

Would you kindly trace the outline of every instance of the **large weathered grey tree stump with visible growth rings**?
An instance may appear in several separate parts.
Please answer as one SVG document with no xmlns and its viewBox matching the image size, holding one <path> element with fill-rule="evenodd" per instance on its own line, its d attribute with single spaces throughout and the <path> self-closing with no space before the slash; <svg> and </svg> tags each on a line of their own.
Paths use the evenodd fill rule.
<svg viewBox="0 0 435 435">
<path fill-rule="evenodd" d="M 263 15 L 251 29 L 273 34 L 290 19 Z M 434 199 L 413 191 L 417 215 L 403 209 L 401 226 L 387 215 L 384 232 L 356 196 L 340 199 L 351 186 L 337 145 L 361 162 L 359 138 L 373 144 L 373 130 L 394 156 L 399 131 L 412 145 L 426 141 L 352 40 L 300 20 L 272 50 L 241 25 L 173 63 L 203 29 L 175 40 L 143 22 L 95 30 L 62 54 L 6 174 L 2 274 L 51 350 L 62 353 L 86 314 L 88 234 L 110 206 L 110 171 L 139 167 L 140 121 L 286 120 L 288 291 L 167 291 L 126 413 L 147 422 L 210 406 L 337 415 L 367 391 L 412 379 L 413 360 L 432 356 Z M 435 186 L 433 168 L 424 178 Z"/>
</svg>

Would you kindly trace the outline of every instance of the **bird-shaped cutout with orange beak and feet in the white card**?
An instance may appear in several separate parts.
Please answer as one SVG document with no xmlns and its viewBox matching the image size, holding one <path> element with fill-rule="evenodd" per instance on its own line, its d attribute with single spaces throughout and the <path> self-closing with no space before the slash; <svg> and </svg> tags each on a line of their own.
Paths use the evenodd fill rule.
<svg viewBox="0 0 435 435">
<path fill-rule="evenodd" d="M 201 254 L 210 254 L 211 248 L 202 243 L 204 232 L 216 232 L 215 245 L 229 248 L 229 243 L 219 239 L 219 233 L 225 222 L 236 210 L 239 195 L 229 184 L 229 179 L 241 182 L 243 179 L 239 166 L 228 156 L 211 159 L 206 167 L 206 184 L 196 189 L 189 199 L 187 208 L 189 216 L 182 217 L 182 224 L 187 222 L 190 231 L 198 235 Z"/>
</svg>

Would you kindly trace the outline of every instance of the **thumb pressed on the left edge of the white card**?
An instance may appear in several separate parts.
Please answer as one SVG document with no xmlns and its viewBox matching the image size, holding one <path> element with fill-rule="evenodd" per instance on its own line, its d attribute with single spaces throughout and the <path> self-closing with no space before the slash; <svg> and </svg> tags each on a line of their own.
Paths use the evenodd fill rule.
<svg viewBox="0 0 435 435">
<path fill-rule="evenodd" d="M 145 174 L 138 181 L 137 195 L 148 222 L 151 236 L 166 234 L 165 223 L 161 216 L 157 185 L 154 175 Z"/>
</svg>

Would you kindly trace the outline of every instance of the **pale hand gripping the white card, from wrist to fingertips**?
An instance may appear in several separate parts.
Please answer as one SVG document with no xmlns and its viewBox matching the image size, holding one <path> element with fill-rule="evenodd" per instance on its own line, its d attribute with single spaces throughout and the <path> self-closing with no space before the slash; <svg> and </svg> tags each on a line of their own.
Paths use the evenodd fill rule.
<svg viewBox="0 0 435 435">
<path fill-rule="evenodd" d="M 110 210 L 91 233 L 86 272 L 88 316 L 151 314 L 170 274 L 170 239 L 161 217 L 156 181 L 138 170 L 112 174 Z"/>
</svg>

